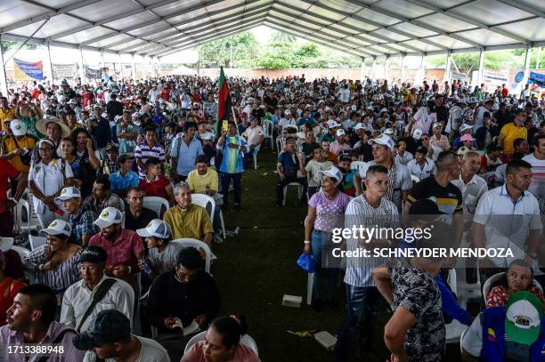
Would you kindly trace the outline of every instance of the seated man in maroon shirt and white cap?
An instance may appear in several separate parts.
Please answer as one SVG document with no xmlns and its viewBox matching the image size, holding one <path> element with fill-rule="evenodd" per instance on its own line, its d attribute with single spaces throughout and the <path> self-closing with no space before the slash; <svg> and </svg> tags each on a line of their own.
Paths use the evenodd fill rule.
<svg viewBox="0 0 545 362">
<path fill-rule="evenodd" d="M 89 240 L 89 246 L 101 246 L 108 253 L 106 275 L 125 280 L 139 295 L 136 273 L 140 270 L 138 261 L 144 250 L 142 238 L 135 231 L 124 229 L 121 212 L 115 207 L 106 207 L 94 224 L 101 228 Z"/>
</svg>

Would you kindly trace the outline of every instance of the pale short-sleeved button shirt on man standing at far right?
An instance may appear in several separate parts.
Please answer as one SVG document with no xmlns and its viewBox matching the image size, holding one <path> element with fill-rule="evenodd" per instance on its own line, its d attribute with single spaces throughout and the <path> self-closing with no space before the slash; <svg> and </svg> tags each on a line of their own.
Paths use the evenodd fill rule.
<svg viewBox="0 0 545 362">
<path fill-rule="evenodd" d="M 506 185 L 484 193 L 473 221 L 484 225 L 486 248 L 511 249 L 513 258 L 490 258 L 500 268 L 508 268 L 514 259 L 524 259 L 529 231 L 541 230 L 542 227 L 537 199 L 525 191 L 517 202 L 513 202 Z"/>
</svg>

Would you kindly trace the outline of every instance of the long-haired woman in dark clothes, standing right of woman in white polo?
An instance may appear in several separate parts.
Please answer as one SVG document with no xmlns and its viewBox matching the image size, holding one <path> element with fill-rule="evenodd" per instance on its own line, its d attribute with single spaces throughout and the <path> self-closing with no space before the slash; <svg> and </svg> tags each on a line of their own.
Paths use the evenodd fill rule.
<svg viewBox="0 0 545 362">
<path fill-rule="evenodd" d="M 79 163 L 79 180 L 81 181 L 81 196 L 87 197 L 93 191 L 93 183 L 96 180 L 96 171 L 101 166 L 101 157 L 98 150 L 94 149 L 91 134 L 84 128 L 77 128 L 72 133 L 72 141 L 76 145 L 76 157 Z"/>
</svg>

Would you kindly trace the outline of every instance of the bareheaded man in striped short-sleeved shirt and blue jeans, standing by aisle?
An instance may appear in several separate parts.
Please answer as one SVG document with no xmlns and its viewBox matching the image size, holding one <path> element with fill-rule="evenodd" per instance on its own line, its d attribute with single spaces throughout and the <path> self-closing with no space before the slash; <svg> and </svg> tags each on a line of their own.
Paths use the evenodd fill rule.
<svg viewBox="0 0 545 362">
<path fill-rule="evenodd" d="M 345 228 L 352 230 L 353 227 L 366 228 L 368 225 L 395 228 L 398 223 L 397 207 L 384 197 L 388 184 L 386 167 L 371 165 L 364 184 L 363 194 L 346 206 Z M 352 235 L 346 238 L 346 251 L 356 251 L 367 245 L 366 241 L 370 240 Z M 371 350 L 375 318 L 386 308 L 386 301 L 378 293 L 371 277 L 371 270 L 381 262 L 379 258 L 346 258 L 346 313 L 335 345 L 335 360 L 338 362 L 347 360 L 350 336 L 353 334 L 358 335 L 361 350 Z"/>
</svg>

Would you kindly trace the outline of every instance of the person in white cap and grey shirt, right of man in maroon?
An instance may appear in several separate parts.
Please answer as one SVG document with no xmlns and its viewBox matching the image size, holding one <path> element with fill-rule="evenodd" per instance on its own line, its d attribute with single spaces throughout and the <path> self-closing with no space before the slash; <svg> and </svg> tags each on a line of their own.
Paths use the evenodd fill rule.
<svg viewBox="0 0 545 362">
<path fill-rule="evenodd" d="M 149 256 L 143 257 L 145 262 L 138 262 L 143 272 L 153 272 L 158 276 L 175 269 L 176 256 L 183 249 L 183 245 L 170 242 L 170 226 L 167 222 L 154 219 L 144 229 L 137 229 L 136 232 L 144 237 L 149 252 Z M 150 269 L 146 268 L 146 264 Z"/>
</svg>

